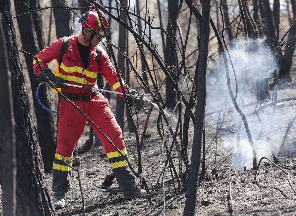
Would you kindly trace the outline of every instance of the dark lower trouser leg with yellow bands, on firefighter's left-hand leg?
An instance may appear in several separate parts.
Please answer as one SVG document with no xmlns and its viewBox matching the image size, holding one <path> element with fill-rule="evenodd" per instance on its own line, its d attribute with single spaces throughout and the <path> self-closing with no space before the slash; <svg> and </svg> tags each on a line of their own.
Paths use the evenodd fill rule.
<svg viewBox="0 0 296 216">
<path fill-rule="evenodd" d="M 71 157 L 64 157 L 64 159 L 68 164 L 72 166 Z M 72 169 L 64 163 L 62 156 L 58 153 L 56 153 L 54 156 L 53 168 L 53 191 L 59 193 L 67 193 L 70 190 L 71 186 Z"/>
</svg>

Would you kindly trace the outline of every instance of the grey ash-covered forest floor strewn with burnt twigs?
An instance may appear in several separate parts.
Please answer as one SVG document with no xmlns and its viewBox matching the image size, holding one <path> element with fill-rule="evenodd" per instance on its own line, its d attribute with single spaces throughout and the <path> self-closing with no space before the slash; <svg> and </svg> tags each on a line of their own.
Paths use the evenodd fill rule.
<svg viewBox="0 0 296 216">
<path fill-rule="evenodd" d="M 277 93 L 278 99 L 289 98 L 294 97 L 295 90 L 287 86 L 279 86 Z M 209 93 L 208 98 L 211 96 L 211 93 Z M 215 101 L 217 106 L 211 104 L 211 106 L 207 106 L 206 109 L 206 149 L 208 150 L 206 154 L 206 175 L 197 189 L 196 215 L 231 215 L 229 200 L 230 181 L 232 185 L 234 214 L 295 215 L 296 194 L 288 183 L 287 175 L 267 160 L 261 162 L 257 172 L 252 169 L 250 145 L 243 126 L 239 141 L 240 147 L 237 147 L 237 113 L 233 109 L 230 98 L 228 98 L 225 121 L 218 134 L 217 158 L 216 164 L 214 163 L 216 152 L 216 139 L 214 139 L 214 137 L 216 135 L 218 115 L 224 99 L 225 98 L 221 97 L 221 100 Z M 252 102 L 253 100 L 254 95 L 245 98 L 245 114 L 254 111 L 256 103 Z M 271 100 L 271 98 L 265 99 L 262 106 L 269 104 Z M 217 107 L 219 108 L 217 109 Z M 260 117 L 263 122 L 262 131 L 260 122 L 256 116 L 248 118 L 258 152 L 257 162 L 259 162 L 262 156 L 272 159 L 271 149 L 273 149 L 277 155 L 279 151 L 278 147 L 282 143 L 289 120 L 295 115 L 295 102 L 288 101 L 278 104 L 275 113 L 273 113 L 272 110 L 273 109 L 265 109 L 260 112 Z M 156 114 L 155 116 L 152 115 L 147 131 L 147 134 L 151 136 L 144 139 L 144 150 L 142 152 L 144 171 L 155 163 L 161 152 L 161 139 L 158 136 L 155 126 L 157 110 L 153 112 Z M 141 119 L 144 120 L 145 116 L 140 116 L 139 119 L 140 121 Z M 296 138 L 294 131 L 295 126 L 292 126 L 285 140 L 285 150 L 282 152 L 281 157 L 278 157 L 278 161 L 280 165 L 288 168 L 286 171 L 290 173 L 292 185 L 295 187 Z M 258 139 L 260 133 L 261 137 Z M 137 155 L 135 136 L 133 134 L 128 134 L 126 131 L 124 137 L 130 149 Z M 79 140 L 79 143 L 82 144 L 87 139 L 88 127 L 86 127 L 84 135 Z M 191 157 L 192 139 L 193 133 L 191 132 L 189 133 L 189 157 Z M 213 139 L 214 142 L 212 142 Z M 171 143 L 171 141 L 172 138 L 168 137 L 167 143 Z M 130 150 L 128 150 L 128 154 L 131 158 L 132 165 L 136 168 L 137 166 Z M 178 171 L 179 162 L 177 151 L 173 150 L 172 155 L 175 167 Z M 165 194 L 165 214 L 182 215 L 186 201 L 186 190 L 183 189 L 180 193 L 175 193 L 169 168 L 165 170 L 165 177 L 163 179 L 164 188 L 162 175 L 159 179 L 166 160 L 166 154 L 160 157 L 158 165 L 153 169 L 153 174 L 152 171 L 149 172 L 151 182 L 146 175 L 146 181 L 150 189 L 152 189 L 151 185 L 155 185 L 159 179 L 158 184 L 154 187 L 155 192 L 152 191 L 153 206 L 149 205 L 147 199 L 126 201 L 122 199 L 121 192 L 109 192 L 106 189 L 97 187 L 102 185 L 105 176 L 111 172 L 108 159 L 102 147 L 92 149 L 74 158 L 78 158 L 80 161 L 79 170 L 84 193 L 86 215 L 162 215 L 164 211 L 163 194 Z M 219 165 L 221 162 L 223 163 Z M 246 171 L 243 171 L 244 166 L 246 166 Z M 183 170 L 185 170 L 184 167 Z M 58 215 L 82 215 L 82 200 L 76 176 L 77 173 L 73 171 L 71 192 L 66 194 L 68 211 L 66 209 L 58 210 Z M 51 187 L 51 178 L 51 174 L 46 174 L 46 181 L 49 187 Z M 175 185 L 177 185 L 175 180 L 174 182 Z M 114 182 L 111 187 L 117 188 L 118 185 Z"/>
</svg>

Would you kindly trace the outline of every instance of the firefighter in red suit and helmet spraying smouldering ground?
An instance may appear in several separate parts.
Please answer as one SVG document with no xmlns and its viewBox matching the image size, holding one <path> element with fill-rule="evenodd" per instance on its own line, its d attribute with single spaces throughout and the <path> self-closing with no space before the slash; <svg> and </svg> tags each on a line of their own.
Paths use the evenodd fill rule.
<svg viewBox="0 0 296 216">
<path fill-rule="evenodd" d="M 99 16 L 101 16 L 101 19 Z M 82 15 L 78 22 L 82 25 L 82 32 L 70 36 L 57 73 L 52 73 L 47 64 L 54 59 L 58 61 L 63 38 L 57 39 L 36 55 L 44 73 L 41 72 L 36 60 L 33 62 L 34 73 L 38 81 L 45 81 L 49 84 L 52 82 L 57 88 L 61 88 L 62 93 L 75 103 L 124 155 L 127 155 L 122 130 L 114 118 L 109 101 L 96 91 L 91 92 L 87 89 L 70 87 L 64 84 L 70 83 L 93 87 L 96 84 L 97 74 L 101 73 L 115 91 L 122 93 L 117 73 L 110 62 L 109 56 L 103 49 L 99 54 L 97 52 L 100 39 L 105 37 L 103 25 L 105 30 L 109 31 L 105 14 L 102 11 L 97 12 L 95 9 L 90 9 Z M 101 56 L 98 56 L 100 54 Z M 100 59 L 99 62 L 97 56 Z M 46 79 L 45 74 L 50 81 Z M 122 82 L 124 83 L 123 79 Z M 127 92 L 129 87 L 126 84 L 123 87 Z M 139 95 L 134 89 L 129 89 L 129 91 L 132 95 Z M 121 97 L 123 98 L 122 95 Z M 143 108 L 145 101 L 140 98 L 132 99 L 131 96 L 128 96 L 128 102 L 130 106 L 134 105 L 136 110 L 140 110 Z M 81 137 L 87 121 L 65 98 L 61 99 L 58 112 L 58 144 L 53 164 L 53 202 L 55 209 L 65 207 L 65 193 L 70 190 L 71 186 L 71 168 L 65 165 L 62 156 L 67 163 L 71 164 L 75 145 Z M 111 169 L 123 192 L 123 198 L 132 199 L 147 195 L 146 191 L 135 182 L 136 177 L 131 172 L 125 157 L 121 156 L 95 127 L 92 126 L 92 128 L 102 141 Z"/>
</svg>

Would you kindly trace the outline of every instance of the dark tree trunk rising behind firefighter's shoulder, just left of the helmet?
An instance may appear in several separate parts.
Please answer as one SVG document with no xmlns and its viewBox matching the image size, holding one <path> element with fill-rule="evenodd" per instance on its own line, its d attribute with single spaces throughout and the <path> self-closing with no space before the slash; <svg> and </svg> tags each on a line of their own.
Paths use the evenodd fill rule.
<svg viewBox="0 0 296 216">
<path fill-rule="evenodd" d="M 69 5 L 69 0 L 61 0 L 66 5 Z M 59 0 L 52 0 L 54 6 L 64 5 Z M 72 12 L 68 8 L 54 8 L 54 22 L 55 22 L 55 32 L 57 38 L 62 38 L 66 35 L 73 35 L 73 19 Z"/>
</svg>

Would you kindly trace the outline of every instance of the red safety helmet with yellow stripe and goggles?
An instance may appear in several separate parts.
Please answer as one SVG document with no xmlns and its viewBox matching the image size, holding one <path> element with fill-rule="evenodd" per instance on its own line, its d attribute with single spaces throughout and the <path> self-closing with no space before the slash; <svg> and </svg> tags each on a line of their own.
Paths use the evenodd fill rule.
<svg viewBox="0 0 296 216">
<path fill-rule="evenodd" d="M 99 15 L 101 16 L 101 21 L 103 22 L 103 25 L 105 29 L 111 29 L 111 27 L 108 26 L 108 19 L 106 15 L 99 10 Z M 88 30 L 91 30 L 89 27 L 91 27 L 97 34 L 104 37 L 104 31 L 102 23 L 99 19 L 99 15 L 96 9 L 87 10 L 85 14 L 81 16 L 82 19 L 79 19 L 78 22 L 81 23 L 83 27 L 86 27 Z M 88 27 L 89 26 L 89 27 Z"/>
</svg>

